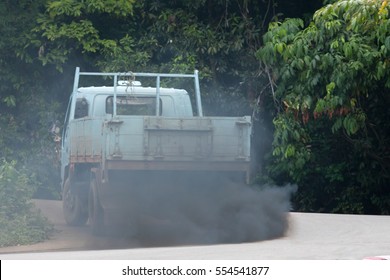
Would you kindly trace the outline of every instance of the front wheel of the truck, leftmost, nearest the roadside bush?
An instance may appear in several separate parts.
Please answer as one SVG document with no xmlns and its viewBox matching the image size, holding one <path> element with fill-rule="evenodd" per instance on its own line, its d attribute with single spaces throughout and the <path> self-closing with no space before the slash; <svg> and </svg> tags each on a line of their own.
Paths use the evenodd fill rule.
<svg viewBox="0 0 390 280">
<path fill-rule="evenodd" d="M 85 208 L 79 195 L 71 191 L 69 178 L 66 179 L 64 184 L 62 210 L 64 212 L 65 221 L 68 225 L 82 226 L 87 222 L 87 209 Z"/>
</svg>

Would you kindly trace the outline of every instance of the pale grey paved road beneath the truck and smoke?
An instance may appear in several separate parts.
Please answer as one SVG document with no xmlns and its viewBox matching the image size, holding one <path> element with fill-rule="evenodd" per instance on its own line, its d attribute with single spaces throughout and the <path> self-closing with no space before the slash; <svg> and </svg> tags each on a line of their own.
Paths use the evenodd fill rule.
<svg viewBox="0 0 390 280">
<path fill-rule="evenodd" d="M 88 227 L 66 226 L 58 201 L 38 201 L 38 205 L 57 233 L 40 244 L 0 248 L 0 259 L 360 260 L 390 255 L 390 216 L 290 213 L 289 231 L 274 240 L 145 248 L 118 236 L 92 237 Z"/>
</svg>

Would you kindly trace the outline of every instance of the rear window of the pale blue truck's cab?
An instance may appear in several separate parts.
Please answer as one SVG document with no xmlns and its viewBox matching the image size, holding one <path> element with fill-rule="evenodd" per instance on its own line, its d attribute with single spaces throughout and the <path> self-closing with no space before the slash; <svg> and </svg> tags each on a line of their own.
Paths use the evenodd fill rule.
<svg viewBox="0 0 390 280">
<path fill-rule="evenodd" d="M 106 99 L 106 113 L 113 113 L 114 97 Z M 160 114 L 162 112 L 162 102 L 160 100 Z M 156 98 L 145 96 L 117 96 L 116 113 L 118 115 L 130 116 L 153 116 L 156 115 Z"/>
</svg>

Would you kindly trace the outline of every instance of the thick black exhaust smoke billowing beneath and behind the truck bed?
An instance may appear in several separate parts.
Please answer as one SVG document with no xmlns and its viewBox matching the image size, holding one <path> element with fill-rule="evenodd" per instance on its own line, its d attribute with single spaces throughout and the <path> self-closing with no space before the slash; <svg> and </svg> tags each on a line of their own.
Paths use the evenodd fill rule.
<svg viewBox="0 0 390 280">
<path fill-rule="evenodd" d="M 203 173 L 149 175 L 124 182 L 131 182 L 124 186 L 130 190 L 130 199 L 122 202 L 127 210 L 120 218 L 120 232 L 141 246 L 281 237 L 288 229 L 290 196 L 295 191 L 293 186 L 247 186 Z"/>
</svg>

